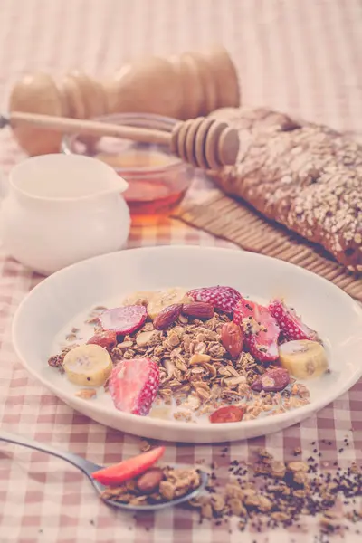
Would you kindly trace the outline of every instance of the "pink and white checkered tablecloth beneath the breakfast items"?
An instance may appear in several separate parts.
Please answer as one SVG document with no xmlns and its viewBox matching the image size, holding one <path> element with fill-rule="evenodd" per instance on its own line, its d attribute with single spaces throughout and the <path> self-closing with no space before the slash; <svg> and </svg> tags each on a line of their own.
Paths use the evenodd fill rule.
<svg viewBox="0 0 362 543">
<path fill-rule="evenodd" d="M 245 104 L 269 105 L 360 138 L 361 36 L 360 0 L 0 0 L 1 106 L 6 110 L 9 90 L 25 71 L 57 75 L 81 68 L 106 75 L 135 56 L 218 42 L 237 65 Z M 11 135 L 0 133 L 5 176 L 22 157 Z M 190 197 L 199 197 L 202 189 L 198 180 Z M 129 238 L 129 247 L 167 243 L 226 245 L 172 221 L 134 227 Z M 138 452 L 138 438 L 72 411 L 28 376 L 14 355 L 14 310 L 38 281 L 0 253 L 1 428 L 99 463 Z M 346 435 L 350 445 L 338 452 Z M 330 447 L 322 439 L 337 444 Z M 362 383 L 303 424 L 266 439 L 233 443 L 223 457 L 219 445 L 171 444 L 167 461 L 216 460 L 227 472 L 230 458 L 250 458 L 259 445 L 282 459 L 296 446 L 308 456 L 313 441 L 325 461 L 362 461 Z M 89 481 L 65 462 L 0 443 L 0 543 L 315 543 L 314 525 L 308 520 L 304 533 L 241 535 L 233 528 L 199 525 L 197 516 L 183 509 L 123 514 L 103 505 Z M 353 533 L 346 540 L 360 541 Z"/>
</svg>

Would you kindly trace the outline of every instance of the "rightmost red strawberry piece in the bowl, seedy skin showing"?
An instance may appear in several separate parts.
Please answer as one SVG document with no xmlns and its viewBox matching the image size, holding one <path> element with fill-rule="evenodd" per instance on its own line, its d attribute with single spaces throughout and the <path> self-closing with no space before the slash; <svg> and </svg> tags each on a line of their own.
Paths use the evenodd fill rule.
<svg viewBox="0 0 362 543">
<path fill-rule="evenodd" d="M 269 310 L 278 322 L 284 336 L 290 341 L 295 339 L 318 340 L 317 332 L 304 324 L 296 312 L 288 308 L 282 300 L 272 300 L 269 304 Z"/>
</svg>

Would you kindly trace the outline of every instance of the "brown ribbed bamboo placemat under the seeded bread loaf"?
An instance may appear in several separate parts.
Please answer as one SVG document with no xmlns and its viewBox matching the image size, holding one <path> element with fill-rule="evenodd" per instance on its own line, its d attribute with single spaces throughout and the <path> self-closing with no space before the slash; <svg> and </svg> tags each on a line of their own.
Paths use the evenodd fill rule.
<svg viewBox="0 0 362 543">
<path fill-rule="evenodd" d="M 221 191 L 203 203 L 181 205 L 174 216 L 186 224 L 236 243 L 245 251 L 260 252 L 314 271 L 362 301 L 362 279 L 357 279 L 319 247 L 266 220 L 242 201 L 234 200 Z"/>
</svg>

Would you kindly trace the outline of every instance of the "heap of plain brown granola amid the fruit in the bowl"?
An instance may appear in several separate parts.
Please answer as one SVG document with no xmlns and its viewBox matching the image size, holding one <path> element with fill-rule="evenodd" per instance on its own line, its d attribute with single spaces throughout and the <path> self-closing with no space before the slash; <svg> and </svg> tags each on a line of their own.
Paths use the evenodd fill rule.
<svg viewBox="0 0 362 543">
<path fill-rule="evenodd" d="M 220 342 L 220 330 L 228 315 L 215 313 L 213 319 L 177 319 L 169 329 L 143 327 L 128 335 L 110 352 L 114 363 L 123 358 L 149 357 L 159 365 L 158 397 L 166 405 L 176 405 L 174 418 L 194 420 L 224 405 L 247 405 L 246 413 L 269 414 L 281 405 L 281 396 L 255 395 L 251 385 L 265 367 L 250 353 L 233 360 Z M 139 341 L 148 335 L 148 341 Z M 268 405 L 268 410 L 265 406 Z M 267 412 L 268 411 L 268 412 Z"/>
</svg>

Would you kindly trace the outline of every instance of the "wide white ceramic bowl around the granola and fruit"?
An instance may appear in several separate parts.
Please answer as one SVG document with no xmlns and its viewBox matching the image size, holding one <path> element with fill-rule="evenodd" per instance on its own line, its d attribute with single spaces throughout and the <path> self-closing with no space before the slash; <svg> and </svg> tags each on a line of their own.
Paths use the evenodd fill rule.
<svg viewBox="0 0 362 543">
<path fill-rule="evenodd" d="M 130 291 L 230 285 L 252 298 L 284 296 L 330 353 L 331 373 L 309 382 L 311 403 L 285 414 L 233 424 L 187 424 L 117 411 L 109 395 L 85 401 L 47 365 L 54 341 L 98 304 L 116 304 Z M 82 316 L 83 314 L 83 316 Z M 187 443 L 220 443 L 272 433 L 299 423 L 353 386 L 362 375 L 362 310 L 329 281 L 286 262 L 251 252 L 190 246 L 115 252 L 59 271 L 28 294 L 16 312 L 14 348 L 24 367 L 74 409 L 136 435 Z"/>
</svg>

